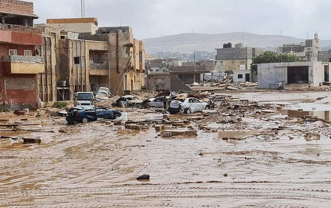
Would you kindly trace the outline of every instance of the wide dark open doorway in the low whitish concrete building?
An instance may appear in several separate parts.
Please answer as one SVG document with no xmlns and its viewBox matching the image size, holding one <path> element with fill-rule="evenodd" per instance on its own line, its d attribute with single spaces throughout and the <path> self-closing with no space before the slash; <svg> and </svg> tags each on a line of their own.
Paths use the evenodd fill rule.
<svg viewBox="0 0 331 208">
<path fill-rule="evenodd" d="M 287 83 L 301 84 L 308 83 L 308 66 L 289 66 L 287 67 Z"/>
</svg>

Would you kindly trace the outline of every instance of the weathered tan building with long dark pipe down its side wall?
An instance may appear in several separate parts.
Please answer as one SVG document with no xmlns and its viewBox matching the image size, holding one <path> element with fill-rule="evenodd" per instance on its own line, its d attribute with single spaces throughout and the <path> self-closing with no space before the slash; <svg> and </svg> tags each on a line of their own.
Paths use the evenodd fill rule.
<svg viewBox="0 0 331 208">
<path fill-rule="evenodd" d="M 145 46 L 133 38 L 131 27 L 100 27 L 95 35 L 83 35 L 81 39 L 108 43 L 110 90 L 113 94 L 139 92 L 145 85 L 142 68 Z"/>
</svg>

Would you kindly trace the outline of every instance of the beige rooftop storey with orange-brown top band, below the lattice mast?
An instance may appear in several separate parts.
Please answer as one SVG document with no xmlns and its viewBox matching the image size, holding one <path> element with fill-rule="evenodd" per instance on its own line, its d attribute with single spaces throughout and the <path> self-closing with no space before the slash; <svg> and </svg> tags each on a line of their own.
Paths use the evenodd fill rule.
<svg viewBox="0 0 331 208">
<path fill-rule="evenodd" d="M 46 19 L 46 23 L 55 24 L 63 31 L 77 32 L 79 35 L 93 35 L 98 30 L 98 19 L 95 17 Z"/>
</svg>

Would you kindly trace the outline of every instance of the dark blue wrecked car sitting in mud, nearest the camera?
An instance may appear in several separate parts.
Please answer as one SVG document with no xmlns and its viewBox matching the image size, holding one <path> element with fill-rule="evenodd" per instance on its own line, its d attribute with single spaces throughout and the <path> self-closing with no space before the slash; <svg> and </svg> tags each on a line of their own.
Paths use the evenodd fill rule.
<svg viewBox="0 0 331 208">
<path fill-rule="evenodd" d="M 97 121 L 98 118 L 114 120 L 121 115 L 122 113 L 118 110 L 93 108 L 91 106 L 76 106 L 68 111 L 66 120 L 69 125 L 72 125 L 74 122 L 87 123 L 89 121 Z"/>
</svg>

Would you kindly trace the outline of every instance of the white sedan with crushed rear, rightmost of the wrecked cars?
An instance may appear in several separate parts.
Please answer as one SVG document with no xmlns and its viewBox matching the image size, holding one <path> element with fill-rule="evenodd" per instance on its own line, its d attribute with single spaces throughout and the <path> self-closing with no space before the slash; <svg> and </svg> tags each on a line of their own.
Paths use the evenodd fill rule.
<svg viewBox="0 0 331 208">
<path fill-rule="evenodd" d="M 171 101 L 168 111 L 170 114 L 176 114 L 179 112 L 191 114 L 205 109 L 210 109 L 210 105 L 207 102 L 191 97 L 185 99 L 184 102 L 179 100 Z"/>
</svg>

